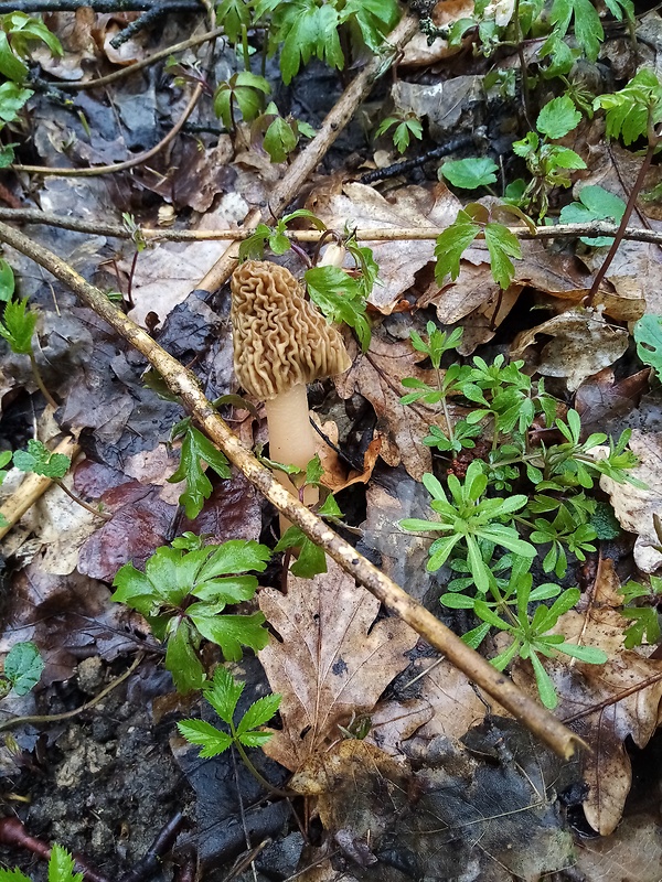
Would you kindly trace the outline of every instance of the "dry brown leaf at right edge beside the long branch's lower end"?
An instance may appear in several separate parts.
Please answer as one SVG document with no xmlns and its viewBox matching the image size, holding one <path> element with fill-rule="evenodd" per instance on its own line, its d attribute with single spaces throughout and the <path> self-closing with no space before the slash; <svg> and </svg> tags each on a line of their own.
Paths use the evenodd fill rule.
<svg viewBox="0 0 662 882">
<path fill-rule="evenodd" d="M 587 609 L 566 613 L 554 628 L 568 643 L 604 649 L 608 662 L 543 659 L 559 697 L 557 716 L 591 746 L 584 753 L 584 778 L 589 785 L 584 810 L 602 836 L 616 829 L 632 782 L 624 742 L 631 738 L 639 747 L 648 743 L 662 701 L 662 660 L 623 649 L 628 621 L 616 609 L 621 600 L 618 585 L 612 561 L 600 561 Z M 517 662 L 513 679 L 532 689 L 530 664 Z"/>
</svg>

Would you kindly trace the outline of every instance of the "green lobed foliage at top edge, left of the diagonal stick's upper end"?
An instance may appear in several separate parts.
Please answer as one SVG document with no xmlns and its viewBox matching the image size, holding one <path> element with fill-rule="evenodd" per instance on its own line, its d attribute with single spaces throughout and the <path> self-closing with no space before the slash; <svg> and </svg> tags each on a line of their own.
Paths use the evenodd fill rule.
<svg viewBox="0 0 662 882">
<path fill-rule="evenodd" d="M 313 57 L 342 71 L 349 61 L 344 36 L 350 46 L 380 52 L 399 14 L 395 0 L 257 0 L 255 4 L 255 21 L 270 17 L 269 54 L 280 50 L 286 85 Z"/>
</svg>

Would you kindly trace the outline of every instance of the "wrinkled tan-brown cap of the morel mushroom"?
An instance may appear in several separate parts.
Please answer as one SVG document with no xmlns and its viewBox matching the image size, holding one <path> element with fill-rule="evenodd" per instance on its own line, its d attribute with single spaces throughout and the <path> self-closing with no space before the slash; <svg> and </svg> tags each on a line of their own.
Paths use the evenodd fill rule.
<svg viewBox="0 0 662 882">
<path fill-rule="evenodd" d="M 231 288 L 235 373 L 249 395 L 266 401 L 350 367 L 340 333 L 303 299 L 285 267 L 247 260 Z"/>
</svg>

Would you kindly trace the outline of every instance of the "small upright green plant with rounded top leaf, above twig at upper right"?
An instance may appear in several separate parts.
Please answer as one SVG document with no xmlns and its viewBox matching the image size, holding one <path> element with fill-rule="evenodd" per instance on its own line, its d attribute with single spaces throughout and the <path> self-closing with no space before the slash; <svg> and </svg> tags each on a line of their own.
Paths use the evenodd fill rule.
<svg viewBox="0 0 662 882">
<path fill-rule="evenodd" d="M 538 220 L 547 214 L 549 191 L 556 186 L 568 187 L 569 172 L 586 169 L 586 162 L 574 150 L 552 143 L 573 131 L 580 119 L 581 114 L 572 98 L 567 95 L 553 98 L 538 114 L 537 132 L 530 131 L 513 144 L 514 152 L 524 159 L 533 176 L 520 204 L 525 211 L 537 209 Z"/>
</svg>

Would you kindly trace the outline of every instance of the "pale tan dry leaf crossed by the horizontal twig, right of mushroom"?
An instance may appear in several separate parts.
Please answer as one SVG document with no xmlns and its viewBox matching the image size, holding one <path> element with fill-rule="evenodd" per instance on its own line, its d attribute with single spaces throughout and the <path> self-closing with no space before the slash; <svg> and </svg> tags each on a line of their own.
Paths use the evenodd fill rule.
<svg viewBox="0 0 662 882">
<path fill-rule="evenodd" d="M 461 203 L 444 184 L 431 191 L 419 186 L 398 190 L 386 200 L 376 190 L 365 184 L 345 184 L 342 193 L 329 193 L 318 189 L 312 192 L 307 207 L 313 211 L 328 226 L 343 229 L 350 227 L 446 227 L 461 208 Z M 376 284 L 370 302 L 381 312 L 393 311 L 401 295 L 414 284 L 414 277 L 421 267 L 434 260 L 434 239 L 394 240 L 369 243 L 380 265 L 382 286 Z M 472 249 L 465 254 L 472 259 Z M 480 261 L 481 258 L 479 258 Z"/>
</svg>

